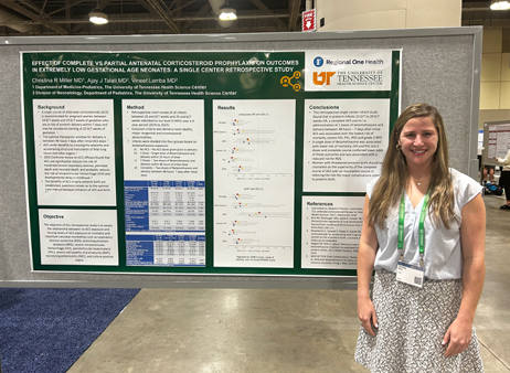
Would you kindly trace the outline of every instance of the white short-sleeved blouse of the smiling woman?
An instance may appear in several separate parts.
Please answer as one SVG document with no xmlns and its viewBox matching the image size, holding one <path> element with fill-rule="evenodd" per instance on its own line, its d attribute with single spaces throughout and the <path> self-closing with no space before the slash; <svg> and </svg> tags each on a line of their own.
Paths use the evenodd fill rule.
<svg viewBox="0 0 510 373">
<path fill-rule="evenodd" d="M 447 230 L 443 223 L 435 227 L 429 216 L 425 217 L 425 276 L 431 279 L 456 279 L 463 277 L 463 248 L 460 243 L 460 225 L 463 206 L 481 193 L 481 185 L 460 173 L 450 169 L 451 182 L 454 184 L 455 214 L 458 221 L 450 223 Z M 366 185 L 369 199 L 379 178 Z M 405 193 L 405 222 L 404 222 L 404 260 L 407 263 L 419 263 L 418 249 L 418 223 L 422 213 L 424 198 L 413 207 L 407 193 Z M 379 241 L 379 251 L 375 256 L 374 267 L 396 273 L 399 262 L 397 234 L 399 234 L 399 206 L 391 209 L 384 222 L 384 228 L 375 224 L 375 232 Z"/>
</svg>

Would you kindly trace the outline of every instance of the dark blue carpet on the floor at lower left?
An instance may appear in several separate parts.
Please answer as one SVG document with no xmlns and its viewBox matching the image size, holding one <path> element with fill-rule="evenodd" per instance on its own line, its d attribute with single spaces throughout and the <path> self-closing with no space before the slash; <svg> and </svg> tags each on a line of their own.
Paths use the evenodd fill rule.
<svg viewBox="0 0 510 373">
<path fill-rule="evenodd" d="M 64 373 L 140 289 L 2 289 L 2 373 Z"/>
</svg>

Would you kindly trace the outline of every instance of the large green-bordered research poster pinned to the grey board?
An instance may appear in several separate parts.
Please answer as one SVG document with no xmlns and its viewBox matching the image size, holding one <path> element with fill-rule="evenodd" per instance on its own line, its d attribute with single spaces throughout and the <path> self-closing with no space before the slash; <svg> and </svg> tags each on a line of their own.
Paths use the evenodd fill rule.
<svg viewBox="0 0 510 373">
<path fill-rule="evenodd" d="M 401 54 L 21 53 L 33 270 L 355 276 Z"/>
</svg>

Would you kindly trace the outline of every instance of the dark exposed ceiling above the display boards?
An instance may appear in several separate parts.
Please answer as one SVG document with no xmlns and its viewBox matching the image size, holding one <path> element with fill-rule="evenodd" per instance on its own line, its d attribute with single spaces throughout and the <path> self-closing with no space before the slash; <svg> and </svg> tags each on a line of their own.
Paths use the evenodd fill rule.
<svg viewBox="0 0 510 373">
<path fill-rule="evenodd" d="M 230 28 L 212 12 L 225 2 L 237 10 Z M 510 11 L 489 4 L 463 0 L 463 25 L 510 28 Z M 96 8 L 108 24 L 88 21 Z M 288 32 L 300 30 L 304 10 L 305 0 L 0 0 L 0 36 Z"/>
</svg>

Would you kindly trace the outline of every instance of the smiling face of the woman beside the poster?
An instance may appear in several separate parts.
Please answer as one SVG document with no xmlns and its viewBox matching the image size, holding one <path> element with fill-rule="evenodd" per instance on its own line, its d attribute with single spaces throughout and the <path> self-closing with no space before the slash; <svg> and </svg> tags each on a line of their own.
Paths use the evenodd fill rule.
<svg viewBox="0 0 510 373">
<path fill-rule="evenodd" d="M 410 119 L 399 138 L 407 167 L 431 166 L 437 150 L 437 129 L 429 117 Z"/>
</svg>

